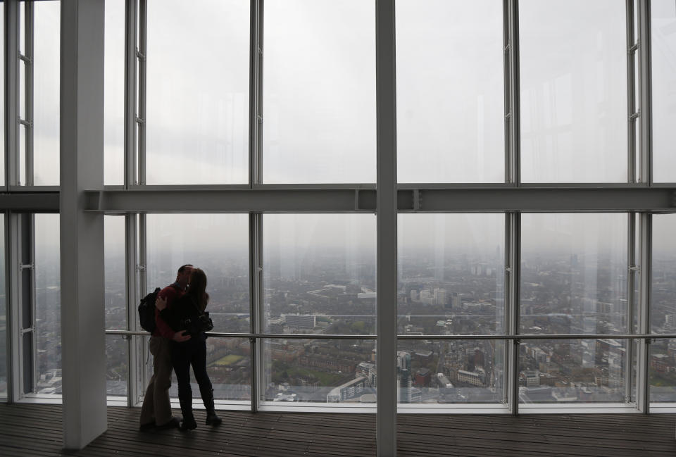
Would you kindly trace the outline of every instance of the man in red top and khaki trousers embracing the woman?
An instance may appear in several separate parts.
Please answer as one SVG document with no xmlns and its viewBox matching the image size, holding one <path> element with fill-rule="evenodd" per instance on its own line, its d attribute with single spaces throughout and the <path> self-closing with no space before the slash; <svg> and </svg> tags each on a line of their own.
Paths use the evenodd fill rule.
<svg viewBox="0 0 676 457">
<path fill-rule="evenodd" d="M 188 286 L 192 265 L 182 265 L 178 269 L 176 281 L 162 289 L 157 297 L 167 301 L 167 304 L 180 299 Z M 156 328 L 150 337 L 149 348 L 153 354 L 153 377 L 146 389 L 141 408 L 141 430 L 152 427 L 173 428 L 180 425 L 180 421 L 171 414 L 169 400 L 169 387 L 171 387 L 171 340 L 184 342 L 190 339 L 190 335 L 182 332 L 174 332 L 155 309 Z"/>
</svg>

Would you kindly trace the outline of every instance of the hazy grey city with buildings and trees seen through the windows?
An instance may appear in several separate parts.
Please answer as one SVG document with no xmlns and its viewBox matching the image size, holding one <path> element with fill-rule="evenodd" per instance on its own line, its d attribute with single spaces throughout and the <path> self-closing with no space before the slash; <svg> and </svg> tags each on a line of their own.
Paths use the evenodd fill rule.
<svg viewBox="0 0 676 457">
<path fill-rule="evenodd" d="M 411 246 L 408 246 L 411 247 Z M 235 254 L 235 252 L 239 251 Z M 314 246 L 303 255 L 264 252 L 263 332 L 307 335 L 263 342 L 264 402 L 374 403 L 377 398 L 375 340 L 317 339 L 315 334 L 375 333 L 375 252 Z M 125 263 L 106 253 L 106 327 L 127 328 Z M 587 253 L 588 254 L 588 253 Z M 249 332 L 249 259 L 195 252 L 208 277 L 215 332 Z M 622 254 L 624 255 L 624 254 Z M 625 403 L 625 339 L 628 331 L 627 265 L 616 253 L 594 256 L 556 249 L 522 252 L 520 331 L 527 334 L 608 334 L 604 339 L 524 340 L 520 344 L 520 402 Z M 43 253 L 37 266 L 37 379 L 35 393 L 61 394 L 58 256 Z M 173 258 L 149 265 L 149 287 L 173 280 Z M 197 262 L 195 262 L 197 263 Z M 503 243 L 468 254 L 400 245 L 398 332 L 408 335 L 468 335 L 467 339 L 399 340 L 397 385 L 401 403 L 494 403 L 506 401 L 505 340 L 472 340 L 472 334 L 505 332 Z M 155 284 L 155 282 L 158 282 Z M 676 331 L 676 257 L 653 263 L 651 330 Z M 132 315 L 135 315 L 135 305 Z M 134 341 L 139 341 L 134 339 Z M 0 355 L 6 357 L 5 341 Z M 251 399 L 248 338 L 207 340 L 208 370 L 218 399 Z M 108 394 L 127 394 L 127 340 L 106 338 Z M 3 359 L 5 361 L 6 359 Z M 151 358 L 142 353 L 149 373 Z M 651 399 L 676 401 L 676 341 L 656 339 L 650 353 Z M 4 363 L 1 364 L 4 366 Z M 633 365 L 630 364 L 630 366 Z M 633 370 L 632 370 L 632 373 Z M 2 380 L 0 391 L 6 387 Z M 632 383 L 633 385 L 633 383 Z M 176 384 L 172 394 L 176 396 Z"/>
</svg>

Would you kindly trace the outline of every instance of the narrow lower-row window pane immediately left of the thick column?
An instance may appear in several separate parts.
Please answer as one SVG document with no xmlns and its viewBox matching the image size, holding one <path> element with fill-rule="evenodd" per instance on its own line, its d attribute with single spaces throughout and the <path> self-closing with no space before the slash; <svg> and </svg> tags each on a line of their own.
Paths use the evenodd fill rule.
<svg viewBox="0 0 676 457">
<path fill-rule="evenodd" d="M 59 215 L 35 215 L 35 393 L 61 395 L 61 253 Z"/>
</svg>

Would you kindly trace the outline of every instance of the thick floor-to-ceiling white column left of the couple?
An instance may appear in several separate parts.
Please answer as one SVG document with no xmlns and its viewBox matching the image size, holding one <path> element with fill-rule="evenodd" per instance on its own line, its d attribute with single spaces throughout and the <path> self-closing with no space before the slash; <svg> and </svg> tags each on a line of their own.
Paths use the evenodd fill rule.
<svg viewBox="0 0 676 457">
<path fill-rule="evenodd" d="M 61 1 L 61 353 L 63 444 L 106 430 L 104 216 L 84 212 L 104 184 L 104 0 Z"/>
</svg>

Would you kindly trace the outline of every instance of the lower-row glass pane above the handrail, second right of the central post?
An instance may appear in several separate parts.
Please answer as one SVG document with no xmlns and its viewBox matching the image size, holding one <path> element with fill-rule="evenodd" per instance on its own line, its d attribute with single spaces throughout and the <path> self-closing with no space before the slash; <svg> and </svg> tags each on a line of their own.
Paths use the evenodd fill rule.
<svg viewBox="0 0 676 457">
<path fill-rule="evenodd" d="M 521 333 L 627 332 L 626 214 L 523 214 L 521 229 Z"/>
</svg>

